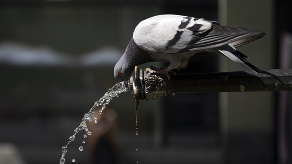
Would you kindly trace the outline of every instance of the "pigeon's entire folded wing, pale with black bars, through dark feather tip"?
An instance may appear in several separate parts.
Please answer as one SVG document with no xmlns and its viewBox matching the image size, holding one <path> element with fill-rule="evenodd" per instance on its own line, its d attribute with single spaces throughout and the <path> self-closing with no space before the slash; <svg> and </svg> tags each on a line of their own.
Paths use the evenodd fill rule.
<svg viewBox="0 0 292 164">
<path fill-rule="evenodd" d="M 202 51 L 226 44 L 238 47 L 264 35 L 259 30 L 220 26 L 203 18 L 160 15 L 140 22 L 133 40 L 141 49 L 160 54 Z"/>
</svg>

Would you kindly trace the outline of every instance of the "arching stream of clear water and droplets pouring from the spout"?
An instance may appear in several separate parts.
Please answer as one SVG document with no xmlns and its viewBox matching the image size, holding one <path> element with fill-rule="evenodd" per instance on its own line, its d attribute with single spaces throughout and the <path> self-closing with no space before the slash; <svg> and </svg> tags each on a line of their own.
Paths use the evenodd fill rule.
<svg viewBox="0 0 292 164">
<path fill-rule="evenodd" d="M 68 151 L 67 147 L 68 147 L 70 142 L 75 140 L 75 135 L 80 130 L 85 130 L 87 135 L 91 135 L 91 131 L 89 131 L 87 128 L 86 121 L 88 120 L 89 122 L 91 122 L 93 119 L 94 122 L 97 123 L 97 118 L 92 116 L 94 114 L 94 111 L 93 111 L 94 108 L 97 106 L 102 106 L 101 109 L 99 110 L 99 114 L 101 114 L 102 111 L 105 109 L 106 105 L 109 104 L 110 100 L 112 100 L 112 98 L 118 97 L 118 94 L 120 94 L 122 92 L 127 92 L 130 90 L 128 86 L 129 86 L 129 82 L 120 82 L 120 83 L 115 84 L 111 89 L 109 89 L 107 92 L 105 92 L 103 97 L 101 97 L 98 101 L 96 101 L 94 103 L 94 105 L 90 108 L 88 113 L 84 114 L 80 125 L 74 130 L 74 134 L 69 137 L 70 141 L 68 141 L 67 144 L 62 147 L 62 155 L 60 158 L 60 164 L 65 163 L 65 154 Z M 84 138 L 87 137 L 86 134 L 83 135 Z M 82 151 L 83 146 L 80 146 L 78 149 L 80 151 Z M 74 159 L 74 161 L 75 161 L 75 159 Z M 74 162 L 74 161 L 72 159 L 72 162 Z"/>
</svg>

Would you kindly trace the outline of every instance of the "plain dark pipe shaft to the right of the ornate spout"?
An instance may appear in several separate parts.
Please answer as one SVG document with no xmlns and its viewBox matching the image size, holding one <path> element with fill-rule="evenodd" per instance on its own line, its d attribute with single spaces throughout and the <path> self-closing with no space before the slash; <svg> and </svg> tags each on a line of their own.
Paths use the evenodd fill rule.
<svg viewBox="0 0 292 164">
<path fill-rule="evenodd" d="M 174 76 L 169 93 L 250 92 L 292 90 L 292 69 L 185 74 Z"/>
</svg>

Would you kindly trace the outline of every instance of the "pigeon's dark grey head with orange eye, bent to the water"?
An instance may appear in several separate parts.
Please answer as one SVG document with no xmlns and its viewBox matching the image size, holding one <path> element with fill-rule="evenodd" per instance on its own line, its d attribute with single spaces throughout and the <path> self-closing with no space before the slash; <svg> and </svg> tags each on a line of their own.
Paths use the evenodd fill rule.
<svg viewBox="0 0 292 164">
<path fill-rule="evenodd" d="M 125 55 L 126 54 L 124 54 L 114 66 L 113 74 L 119 82 L 127 81 L 134 69 L 134 66 L 131 66 L 130 63 L 125 59 Z"/>
</svg>

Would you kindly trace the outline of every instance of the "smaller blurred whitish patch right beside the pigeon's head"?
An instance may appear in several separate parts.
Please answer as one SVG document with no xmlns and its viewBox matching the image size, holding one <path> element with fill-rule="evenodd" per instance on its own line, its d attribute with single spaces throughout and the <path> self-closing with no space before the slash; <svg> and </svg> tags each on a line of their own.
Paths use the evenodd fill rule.
<svg viewBox="0 0 292 164">
<path fill-rule="evenodd" d="M 106 47 L 100 50 L 84 54 L 79 58 L 81 66 L 114 65 L 122 53 L 115 48 Z"/>
</svg>

